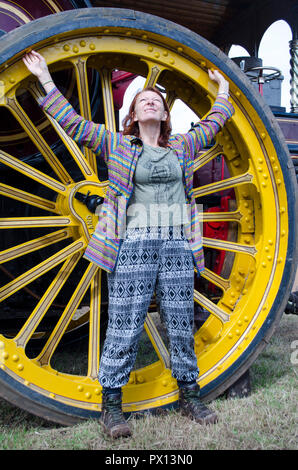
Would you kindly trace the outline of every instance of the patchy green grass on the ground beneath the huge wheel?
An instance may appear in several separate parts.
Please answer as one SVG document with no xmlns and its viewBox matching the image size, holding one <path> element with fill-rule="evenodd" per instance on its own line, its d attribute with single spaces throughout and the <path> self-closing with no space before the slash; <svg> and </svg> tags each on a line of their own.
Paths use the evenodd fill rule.
<svg viewBox="0 0 298 470">
<path fill-rule="evenodd" d="M 11 450 L 219 450 L 297 449 L 298 364 L 291 361 L 298 318 L 284 315 L 266 349 L 251 366 L 247 398 L 218 398 L 209 406 L 219 422 L 202 427 L 179 411 L 130 420 L 133 436 L 107 438 L 88 420 L 71 427 L 49 423 L 0 399 L 0 449 Z"/>
</svg>

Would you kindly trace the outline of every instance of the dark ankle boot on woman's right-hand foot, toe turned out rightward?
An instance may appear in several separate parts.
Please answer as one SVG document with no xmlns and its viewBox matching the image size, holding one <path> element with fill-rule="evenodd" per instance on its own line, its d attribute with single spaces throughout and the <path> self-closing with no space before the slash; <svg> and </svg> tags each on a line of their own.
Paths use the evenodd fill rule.
<svg viewBox="0 0 298 470">
<path fill-rule="evenodd" d="M 179 405 L 182 414 L 189 416 L 199 424 L 214 424 L 218 421 L 214 411 L 209 410 L 200 398 L 200 387 L 185 385 L 179 389 Z"/>
</svg>

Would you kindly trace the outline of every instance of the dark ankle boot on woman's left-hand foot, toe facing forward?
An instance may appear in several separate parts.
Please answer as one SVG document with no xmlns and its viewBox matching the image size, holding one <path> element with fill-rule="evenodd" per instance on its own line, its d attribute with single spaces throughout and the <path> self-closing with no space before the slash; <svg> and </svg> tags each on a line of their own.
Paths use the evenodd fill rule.
<svg viewBox="0 0 298 470">
<path fill-rule="evenodd" d="M 101 422 L 105 432 L 113 438 L 131 436 L 131 430 L 122 413 L 122 394 L 103 394 Z"/>
</svg>

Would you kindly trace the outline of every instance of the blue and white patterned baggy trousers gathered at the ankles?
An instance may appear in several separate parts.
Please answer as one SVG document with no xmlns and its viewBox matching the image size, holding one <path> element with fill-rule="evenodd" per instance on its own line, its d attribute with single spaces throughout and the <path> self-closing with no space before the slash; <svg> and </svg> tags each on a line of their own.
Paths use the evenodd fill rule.
<svg viewBox="0 0 298 470">
<path fill-rule="evenodd" d="M 193 338 L 194 269 L 181 227 L 131 229 L 115 270 L 108 275 L 109 320 L 100 360 L 99 382 L 119 388 L 129 380 L 154 291 L 167 327 L 172 375 L 198 377 Z"/>
</svg>

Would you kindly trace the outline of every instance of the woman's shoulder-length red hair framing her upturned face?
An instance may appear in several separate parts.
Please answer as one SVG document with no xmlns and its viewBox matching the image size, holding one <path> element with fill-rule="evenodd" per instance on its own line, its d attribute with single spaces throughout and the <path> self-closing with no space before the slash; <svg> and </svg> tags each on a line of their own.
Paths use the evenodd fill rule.
<svg viewBox="0 0 298 470">
<path fill-rule="evenodd" d="M 154 91 L 154 93 L 156 93 L 162 99 L 165 111 L 167 112 L 167 119 L 165 121 L 161 121 L 160 123 L 158 145 L 160 147 L 167 147 L 172 131 L 170 109 L 161 92 L 155 87 L 146 87 L 135 95 L 129 107 L 128 114 L 122 121 L 123 135 L 134 135 L 136 137 L 140 136 L 139 124 L 137 121 L 134 121 L 134 110 L 137 98 L 141 93 L 143 93 L 143 91 Z"/>
</svg>

